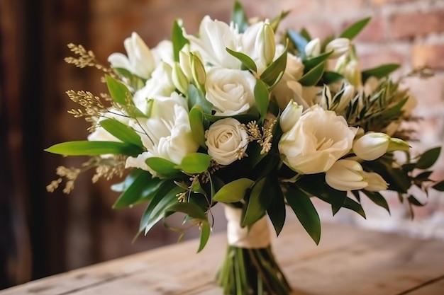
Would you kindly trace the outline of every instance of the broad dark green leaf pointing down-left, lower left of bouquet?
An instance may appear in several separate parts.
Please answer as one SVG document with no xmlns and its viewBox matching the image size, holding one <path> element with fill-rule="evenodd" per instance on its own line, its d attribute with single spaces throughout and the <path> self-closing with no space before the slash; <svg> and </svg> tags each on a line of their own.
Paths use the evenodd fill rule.
<svg viewBox="0 0 444 295">
<path fill-rule="evenodd" d="M 126 187 L 113 204 L 113 209 L 121 209 L 140 202 L 150 201 L 164 183 L 165 180 L 152 178 L 152 175 L 146 171 L 138 173 L 133 178 L 133 183 Z"/>
</svg>

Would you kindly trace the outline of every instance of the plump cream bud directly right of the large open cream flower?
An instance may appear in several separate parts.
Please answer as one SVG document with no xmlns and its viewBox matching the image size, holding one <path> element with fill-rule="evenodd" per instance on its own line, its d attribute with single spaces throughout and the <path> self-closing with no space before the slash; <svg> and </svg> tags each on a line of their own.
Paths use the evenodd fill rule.
<svg viewBox="0 0 444 295">
<path fill-rule="evenodd" d="M 369 132 L 353 142 L 353 152 L 365 161 L 373 161 L 387 152 L 390 137 L 382 132 Z"/>
</svg>

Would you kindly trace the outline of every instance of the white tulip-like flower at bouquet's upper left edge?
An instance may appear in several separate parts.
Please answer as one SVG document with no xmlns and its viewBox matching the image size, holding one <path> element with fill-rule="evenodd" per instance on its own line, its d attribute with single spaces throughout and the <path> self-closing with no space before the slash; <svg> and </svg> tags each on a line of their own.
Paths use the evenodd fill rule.
<svg viewBox="0 0 444 295">
<path fill-rule="evenodd" d="M 140 76 L 140 78 L 148 79 L 152 71 L 155 69 L 155 59 L 150 48 L 143 42 L 140 36 L 133 32 L 123 42 L 126 53 L 113 53 L 108 57 L 108 61 L 113 68 L 123 68 L 131 71 L 131 73 Z"/>
</svg>

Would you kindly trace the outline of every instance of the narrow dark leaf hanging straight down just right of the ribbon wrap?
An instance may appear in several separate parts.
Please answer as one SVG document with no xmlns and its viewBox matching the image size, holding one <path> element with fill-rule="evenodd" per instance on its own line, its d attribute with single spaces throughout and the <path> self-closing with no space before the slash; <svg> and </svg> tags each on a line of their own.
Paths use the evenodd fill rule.
<svg viewBox="0 0 444 295">
<path fill-rule="evenodd" d="M 272 198 L 270 204 L 268 204 L 267 213 L 272 221 L 276 235 L 279 236 L 285 223 L 285 199 L 277 179 L 272 180 L 270 187 L 272 190 L 270 196 L 272 196 Z"/>
</svg>

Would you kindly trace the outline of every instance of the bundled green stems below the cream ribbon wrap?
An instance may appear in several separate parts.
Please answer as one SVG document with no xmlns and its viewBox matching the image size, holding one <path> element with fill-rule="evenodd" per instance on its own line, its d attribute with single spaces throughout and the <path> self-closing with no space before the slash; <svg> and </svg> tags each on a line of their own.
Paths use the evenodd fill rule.
<svg viewBox="0 0 444 295">
<path fill-rule="evenodd" d="M 289 295 L 291 291 L 270 246 L 239 248 L 228 245 L 216 278 L 226 295 Z"/>
</svg>

